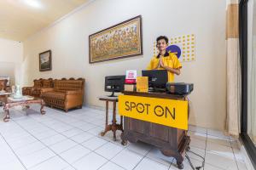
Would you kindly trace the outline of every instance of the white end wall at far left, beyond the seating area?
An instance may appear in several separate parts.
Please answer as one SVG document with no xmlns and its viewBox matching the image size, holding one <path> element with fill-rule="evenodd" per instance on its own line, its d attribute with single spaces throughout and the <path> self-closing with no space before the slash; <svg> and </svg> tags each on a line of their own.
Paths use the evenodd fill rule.
<svg viewBox="0 0 256 170">
<path fill-rule="evenodd" d="M 23 43 L 0 38 L 0 77 L 9 76 L 10 83 L 21 83 Z"/>
</svg>

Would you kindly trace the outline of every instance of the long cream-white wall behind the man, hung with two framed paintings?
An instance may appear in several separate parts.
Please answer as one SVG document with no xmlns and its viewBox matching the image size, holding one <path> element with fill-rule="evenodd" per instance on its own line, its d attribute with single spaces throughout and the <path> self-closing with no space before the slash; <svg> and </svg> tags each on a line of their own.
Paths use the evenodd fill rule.
<svg viewBox="0 0 256 170">
<path fill-rule="evenodd" d="M 88 37 L 124 20 L 143 17 L 144 54 L 89 64 Z M 39 77 L 84 77 L 85 104 L 100 105 L 104 77 L 145 69 L 160 35 L 195 33 L 195 62 L 183 63 L 177 82 L 193 82 L 189 122 L 224 129 L 226 114 L 225 1 L 223 0 L 96 0 L 65 20 L 24 42 L 25 84 Z M 52 50 L 52 71 L 39 72 L 38 54 Z"/>
</svg>

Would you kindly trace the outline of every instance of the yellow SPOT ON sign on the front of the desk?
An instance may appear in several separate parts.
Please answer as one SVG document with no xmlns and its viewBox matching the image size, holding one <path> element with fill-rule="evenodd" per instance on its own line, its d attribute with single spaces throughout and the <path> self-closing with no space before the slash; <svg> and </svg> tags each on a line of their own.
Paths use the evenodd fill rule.
<svg viewBox="0 0 256 170">
<path fill-rule="evenodd" d="M 188 130 L 188 101 L 119 95 L 119 115 Z"/>
</svg>

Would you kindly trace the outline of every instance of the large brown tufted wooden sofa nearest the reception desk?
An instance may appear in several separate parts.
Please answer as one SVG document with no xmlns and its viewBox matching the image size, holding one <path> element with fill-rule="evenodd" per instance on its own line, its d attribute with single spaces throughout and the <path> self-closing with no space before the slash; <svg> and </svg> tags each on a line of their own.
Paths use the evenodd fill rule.
<svg viewBox="0 0 256 170">
<path fill-rule="evenodd" d="M 68 111 L 82 108 L 84 98 L 84 79 L 74 78 L 54 80 L 54 88 L 41 89 L 41 97 L 46 105 Z"/>
</svg>

